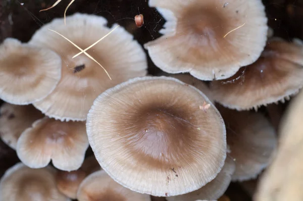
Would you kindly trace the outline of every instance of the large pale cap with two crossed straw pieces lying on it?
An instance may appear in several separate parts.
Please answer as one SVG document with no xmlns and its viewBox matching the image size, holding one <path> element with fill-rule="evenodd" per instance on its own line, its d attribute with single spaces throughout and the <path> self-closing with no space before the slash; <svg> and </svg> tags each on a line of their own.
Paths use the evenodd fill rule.
<svg viewBox="0 0 303 201">
<path fill-rule="evenodd" d="M 63 60 L 62 79 L 57 88 L 34 106 L 49 117 L 83 121 L 100 93 L 130 78 L 146 74 L 146 56 L 131 34 L 122 27 L 116 28 L 87 51 L 108 71 L 112 78 L 110 80 L 106 72 L 85 54 L 72 59 L 80 52 L 79 49 L 48 30 L 59 32 L 85 49 L 112 30 L 106 26 L 107 20 L 87 14 L 74 14 L 66 20 L 66 26 L 63 18 L 44 25 L 29 42 L 53 49 Z"/>
</svg>

